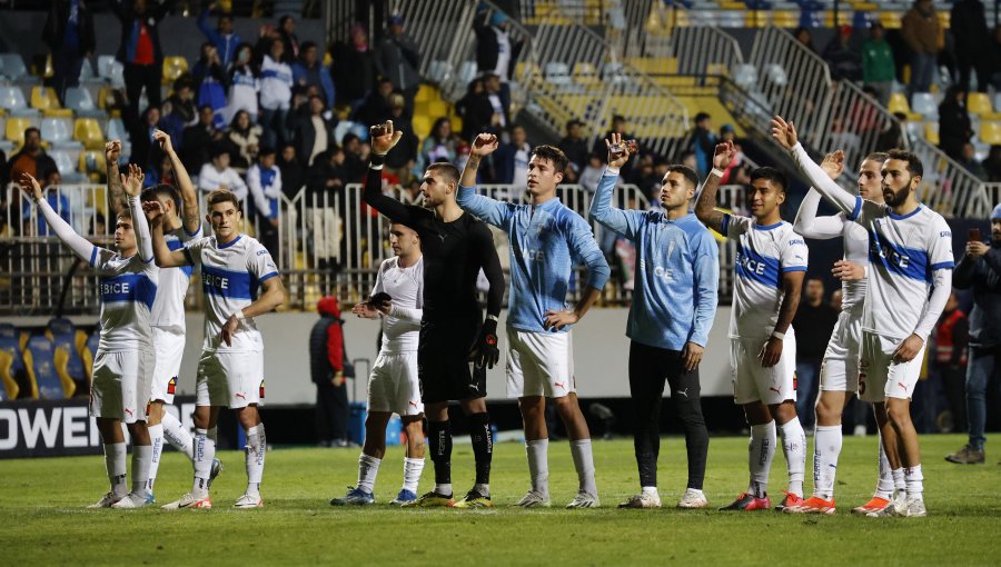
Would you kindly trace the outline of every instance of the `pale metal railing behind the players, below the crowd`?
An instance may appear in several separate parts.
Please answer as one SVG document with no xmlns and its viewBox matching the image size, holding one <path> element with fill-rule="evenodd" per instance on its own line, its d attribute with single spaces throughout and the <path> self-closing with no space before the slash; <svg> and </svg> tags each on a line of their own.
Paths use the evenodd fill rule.
<svg viewBox="0 0 1001 567">
<path fill-rule="evenodd" d="M 523 187 L 483 186 L 480 190 L 512 202 L 524 202 L 526 198 Z M 262 236 L 262 228 L 267 226 L 262 227 L 261 222 L 267 221 L 254 212 L 252 203 L 244 200 L 246 213 L 241 230 L 270 246 L 288 290 L 288 308 L 311 308 L 325 295 L 358 301 L 371 291 L 379 263 L 393 252 L 388 246 L 388 220 L 364 205 L 361 192 L 361 185 L 351 183 L 337 192 L 303 188 L 290 198 L 283 196 L 277 240 L 270 245 Z M 399 187 L 387 187 L 386 192 L 405 202 L 412 200 Z M 22 208 L 19 193 L 16 186 L 6 188 L 7 209 L 2 212 L 11 222 L 0 233 L 0 314 L 96 312 L 100 306 L 98 277 L 86 262 L 77 261 L 54 236 L 40 230 L 36 208 Z M 115 220 L 105 186 L 62 186 L 52 195 L 59 203 L 57 212 L 63 213 L 78 233 L 101 246 L 111 246 Z M 578 185 L 559 186 L 557 196 L 587 218 L 592 198 L 587 189 Z M 205 197 L 205 193 L 199 195 L 202 210 Z M 613 205 L 643 210 L 650 206 L 636 186 L 617 188 Z M 22 212 L 27 213 L 23 218 Z M 592 226 L 598 240 L 604 240 L 603 228 L 594 222 Z M 204 228 L 210 232 L 208 227 Z M 507 237 L 495 230 L 495 243 L 502 266 L 506 267 L 509 261 Z M 612 256 L 613 252 L 608 250 L 608 253 Z M 731 267 L 721 266 L 724 280 L 729 280 Z M 628 270 L 632 266 L 625 268 Z M 195 279 L 197 275 L 192 281 Z M 631 290 L 623 285 L 626 279 L 609 281 L 602 297 L 604 305 L 630 302 Z M 582 280 L 578 278 L 577 281 Z M 197 284 L 192 285 L 197 289 Z M 729 289 L 727 284 L 722 285 Z M 568 300 L 576 300 L 579 290 L 579 286 L 575 287 Z M 200 301 L 200 294 L 188 295 L 189 308 L 199 307 Z"/>
</svg>

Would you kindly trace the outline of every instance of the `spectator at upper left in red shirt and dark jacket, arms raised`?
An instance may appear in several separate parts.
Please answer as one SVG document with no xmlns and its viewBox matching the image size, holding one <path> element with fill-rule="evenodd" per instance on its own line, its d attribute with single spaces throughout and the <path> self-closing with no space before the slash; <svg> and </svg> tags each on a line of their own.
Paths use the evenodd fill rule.
<svg viewBox="0 0 1001 567">
<path fill-rule="evenodd" d="M 159 107 L 163 52 L 158 24 L 174 8 L 149 0 L 112 0 L 111 10 L 121 21 L 121 42 L 116 58 L 125 66 L 126 94 L 132 117 L 139 116 L 139 96 L 146 90 L 149 106 Z"/>
</svg>

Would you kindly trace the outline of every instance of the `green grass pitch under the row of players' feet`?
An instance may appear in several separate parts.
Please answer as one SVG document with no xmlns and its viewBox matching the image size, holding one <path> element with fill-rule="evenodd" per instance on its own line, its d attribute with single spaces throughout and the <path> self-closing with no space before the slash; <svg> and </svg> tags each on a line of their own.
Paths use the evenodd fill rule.
<svg viewBox="0 0 1001 567">
<path fill-rule="evenodd" d="M 727 504 L 746 487 L 746 439 L 710 445 L 706 495 Z M 812 451 L 813 440 L 810 440 Z M 595 441 L 603 508 L 565 510 L 576 489 L 566 442 L 549 447 L 554 507 L 511 509 L 527 489 L 521 444 L 497 444 L 492 490 L 484 511 L 400 510 L 388 503 L 403 478 L 402 448 L 390 447 L 376 486 L 375 506 L 333 508 L 356 479 L 357 449 L 277 448 L 267 457 L 265 508 L 231 509 L 246 481 L 240 452 L 219 455 L 226 470 L 212 510 L 88 510 L 107 490 L 101 457 L 0 460 L 0 564 L 2 565 L 998 565 L 1001 564 L 1001 496 L 998 455 L 988 465 L 945 462 L 959 436 L 926 436 L 928 518 L 873 519 L 849 514 L 868 500 L 875 483 L 876 438 L 848 437 L 838 471 L 834 516 L 772 511 L 682 511 L 684 441 L 665 438 L 660 485 L 665 507 L 618 510 L 637 490 L 632 442 Z M 810 460 L 810 459 L 807 459 Z M 466 490 L 473 452 L 457 446 L 453 480 Z M 807 465 L 806 489 L 811 487 Z M 420 489 L 433 486 L 428 460 Z M 165 504 L 190 487 L 190 465 L 165 456 L 157 499 Z M 781 450 L 771 494 L 785 488 Z"/>
</svg>

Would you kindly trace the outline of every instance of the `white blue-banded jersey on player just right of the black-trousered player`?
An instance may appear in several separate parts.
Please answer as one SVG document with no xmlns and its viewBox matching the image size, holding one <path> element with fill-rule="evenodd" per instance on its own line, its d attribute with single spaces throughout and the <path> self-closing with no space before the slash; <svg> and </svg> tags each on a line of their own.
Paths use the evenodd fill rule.
<svg viewBox="0 0 1001 567">
<path fill-rule="evenodd" d="M 782 275 L 806 271 L 806 242 L 784 220 L 764 227 L 749 217 L 724 215 L 722 228 L 739 239 L 730 337 L 767 338 L 785 297 Z"/>
</svg>

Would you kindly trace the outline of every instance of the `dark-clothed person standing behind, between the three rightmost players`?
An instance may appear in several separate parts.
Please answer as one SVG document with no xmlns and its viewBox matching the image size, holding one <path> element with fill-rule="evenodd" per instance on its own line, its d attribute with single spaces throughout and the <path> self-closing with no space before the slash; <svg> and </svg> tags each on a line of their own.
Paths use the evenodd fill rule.
<svg viewBox="0 0 1001 567">
<path fill-rule="evenodd" d="M 796 329 L 796 415 L 804 429 L 813 426 L 813 402 L 816 400 L 820 367 L 834 332 L 838 311 L 824 301 L 824 282 L 810 278 L 803 286 L 803 300 L 793 318 Z"/>
</svg>

